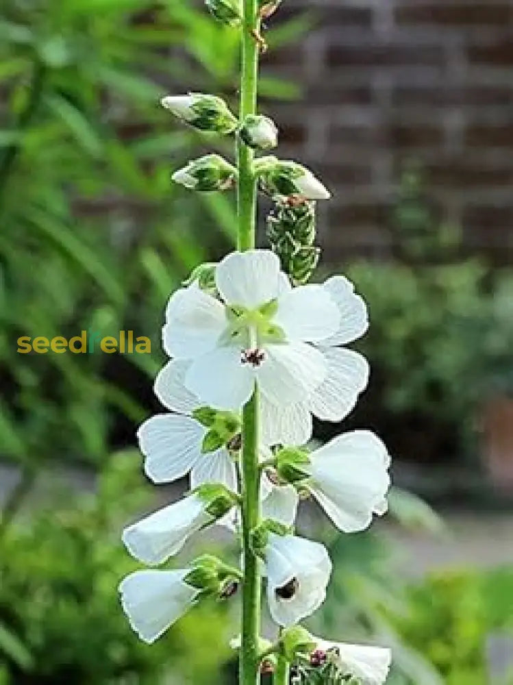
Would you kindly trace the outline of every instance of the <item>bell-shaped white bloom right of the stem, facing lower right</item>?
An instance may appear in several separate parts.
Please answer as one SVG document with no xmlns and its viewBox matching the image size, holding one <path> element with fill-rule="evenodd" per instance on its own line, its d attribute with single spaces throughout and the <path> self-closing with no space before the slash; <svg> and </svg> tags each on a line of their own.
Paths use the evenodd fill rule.
<svg viewBox="0 0 513 685">
<path fill-rule="evenodd" d="M 342 434 L 308 458 L 301 464 L 311 477 L 308 488 L 339 530 L 364 530 L 373 514 L 386 512 L 390 456 L 371 431 Z"/>
</svg>

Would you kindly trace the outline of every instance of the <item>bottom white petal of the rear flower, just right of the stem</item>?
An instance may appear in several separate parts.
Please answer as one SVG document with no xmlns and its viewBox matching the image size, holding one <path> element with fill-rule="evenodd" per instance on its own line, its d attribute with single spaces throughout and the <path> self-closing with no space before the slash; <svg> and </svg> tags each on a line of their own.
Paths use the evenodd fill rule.
<svg viewBox="0 0 513 685">
<path fill-rule="evenodd" d="M 264 445 L 305 445 L 312 430 L 308 403 L 278 406 L 260 395 L 260 439 Z"/>
</svg>

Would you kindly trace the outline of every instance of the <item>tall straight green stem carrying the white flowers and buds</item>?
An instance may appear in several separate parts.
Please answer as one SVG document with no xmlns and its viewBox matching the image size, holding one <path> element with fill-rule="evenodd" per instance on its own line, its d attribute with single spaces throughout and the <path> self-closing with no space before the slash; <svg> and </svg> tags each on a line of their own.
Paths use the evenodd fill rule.
<svg viewBox="0 0 513 685">
<path fill-rule="evenodd" d="M 259 27 L 258 0 L 244 0 L 242 22 L 242 68 L 240 77 L 240 121 L 254 114 L 257 99 L 258 45 L 253 34 Z M 240 138 L 237 141 L 238 234 L 237 247 L 255 247 L 256 186 L 253 150 Z M 260 682 L 258 638 L 260 636 L 260 572 L 258 559 L 251 551 L 251 530 L 260 520 L 260 472 L 258 469 L 258 391 L 242 412 L 242 543 L 244 546 L 244 583 L 242 587 L 242 645 L 240 685 Z"/>
</svg>

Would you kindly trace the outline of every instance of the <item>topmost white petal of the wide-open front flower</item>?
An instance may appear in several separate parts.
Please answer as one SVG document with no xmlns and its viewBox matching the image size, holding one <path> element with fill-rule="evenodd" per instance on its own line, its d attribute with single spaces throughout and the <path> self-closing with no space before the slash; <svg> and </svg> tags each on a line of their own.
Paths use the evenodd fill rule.
<svg viewBox="0 0 513 685">
<path fill-rule="evenodd" d="M 216 269 L 216 286 L 227 304 L 254 309 L 279 291 L 279 259 L 271 250 L 232 252 Z"/>
</svg>

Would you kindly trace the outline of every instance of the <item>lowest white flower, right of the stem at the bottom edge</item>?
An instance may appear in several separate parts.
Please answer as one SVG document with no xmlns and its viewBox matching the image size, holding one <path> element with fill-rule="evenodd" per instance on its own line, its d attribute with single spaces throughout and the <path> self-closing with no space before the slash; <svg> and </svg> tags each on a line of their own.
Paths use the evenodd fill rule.
<svg viewBox="0 0 513 685">
<path fill-rule="evenodd" d="M 336 664 L 343 675 L 351 675 L 361 685 L 383 685 L 386 681 L 392 658 L 390 649 L 320 639 L 317 640 L 317 648 Z"/>
</svg>

